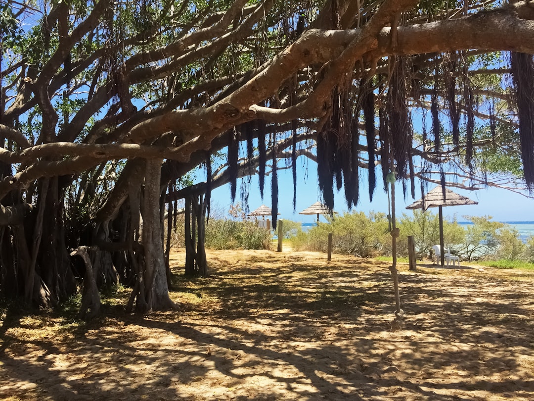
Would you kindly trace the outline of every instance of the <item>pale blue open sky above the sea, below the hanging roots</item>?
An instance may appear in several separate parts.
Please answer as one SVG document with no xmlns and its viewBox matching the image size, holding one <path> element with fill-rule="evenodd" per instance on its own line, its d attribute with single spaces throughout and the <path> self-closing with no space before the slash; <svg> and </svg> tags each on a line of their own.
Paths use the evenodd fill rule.
<svg viewBox="0 0 534 401">
<path fill-rule="evenodd" d="M 296 212 L 293 213 L 293 178 L 290 169 L 282 169 L 278 171 L 279 176 L 279 201 L 278 211 L 280 212 L 280 218 L 313 222 L 316 220 L 315 216 L 299 214 L 300 211 L 310 206 L 312 203 L 320 201 L 320 192 L 317 183 L 317 164 L 313 161 L 309 161 L 307 166 L 302 166 L 302 158 L 299 158 L 299 168 L 297 169 L 297 203 Z M 305 162 L 304 162 L 305 163 Z M 307 171 L 306 171 L 307 167 Z M 377 169 L 377 176 L 380 172 L 380 168 Z M 306 174 L 306 176 L 305 176 Z M 381 173 L 380 173 L 381 174 Z M 360 177 L 362 179 L 362 177 Z M 366 179 L 366 176 L 364 177 Z M 434 188 L 430 185 L 429 190 Z M 522 195 L 515 194 L 506 189 L 480 189 L 477 191 L 465 191 L 457 188 L 450 188 L 458 194 L 467 196 L 473 201 L 478 202 L 478 205 L 466 205 L 466 206 L 449 206 L 444 207 L 443 215 L 446 219 L 452 220 L 456 214 L 458 221 L 465 221 L 462 218 L 463 215 L 491 215 L 495 221 L 533 221 L 534 220 L 534 199 L 526 198 Z M 240 181 L 238 182 L 238 193 L 236 202 L 240 200 L 239 195 Z M 250 183 L 248 204 L 250 211 L 253 211 L 258 206 L 266 205 L 271 206 L 271 177 L 265 177 L 265 189 L 264 199 L 260 198 L 260 190 L 258 189 L 258 178 L 253 176 Z M 421 197 L 419 184 L 416 182 L 416 200 Z M 402 213 L 411 215 L 412 211 L 406 210 L 405 207 L 411 204 L 414 200 L 410 195 L 406 200 L 403 198 L 402 185 L 397 183 L 396 186 L 396 210 L 397 216 Z M 213 191 L 212 202 L 214 205 L 219 206 L 222 210 L 228 210 L 231 204 L 230 199 L 230 185 L 226 185 L 217 188 Z M 345 202 L 343 189 L 339 192 L 335 192 L 335 206 L 336 212 L 346 212 L 347 203 Z M 375 188 L 373 203 L 369 202 L 369 195 L 367 189 L 367 183 L 360 183 L 360 199 L 357 207 L 352 208 L 353 211 L 363 212 L 384 212 L 388 213 L 388 197 L 386 192 L 382 190 L 379 185 Z M 437 209 L 431 209 L 431 211 L 437 213 Z M 324 218 L 321 217 L 324 221 Z"/>
</svg>

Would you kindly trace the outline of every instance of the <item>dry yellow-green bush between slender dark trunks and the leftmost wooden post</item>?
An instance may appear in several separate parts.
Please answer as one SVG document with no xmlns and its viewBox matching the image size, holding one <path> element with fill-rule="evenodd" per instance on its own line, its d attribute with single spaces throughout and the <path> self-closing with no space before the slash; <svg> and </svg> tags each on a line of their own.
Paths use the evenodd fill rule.
<svg viewBox="0 0 534 401">
<path fill-rule="evenodd" d="M 271 232 L 252 221 L 210 219 L 205 244 L 211 249 L 270 249 Z"/>
</svg>

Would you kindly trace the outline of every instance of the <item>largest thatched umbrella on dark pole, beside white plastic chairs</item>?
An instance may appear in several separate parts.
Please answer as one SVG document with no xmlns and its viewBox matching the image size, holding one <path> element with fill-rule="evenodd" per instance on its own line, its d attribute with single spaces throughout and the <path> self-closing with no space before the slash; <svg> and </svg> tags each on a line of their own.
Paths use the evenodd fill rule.
<svg viewBox="0 0 534 401">
<path fill-rule="evenodd" d="M 406 209 L 422 209 L 426 211 L 429 207 L 439 208 L 439 246 L 441 248 L 441 265 L 445 264 L 445 252 L 443 252 L 443 206 L 478 205 L 466 196 L 457 194 L 442 186 L 430 190 L 419 201 L 415 201 Z"/>
</svg>

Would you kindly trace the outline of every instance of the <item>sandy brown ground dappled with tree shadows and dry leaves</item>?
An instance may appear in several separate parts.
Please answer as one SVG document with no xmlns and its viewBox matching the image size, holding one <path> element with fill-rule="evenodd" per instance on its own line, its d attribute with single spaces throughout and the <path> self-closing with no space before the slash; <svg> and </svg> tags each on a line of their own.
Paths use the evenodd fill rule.
<svg viewBox="0 0 534 401">
<path fill-rule="evenodd" d="M 174 283 L 178 312 L 127 315 L 108 298 L 88 325 L 0 317 L 0 399 L 534 399 L 534 272 L 400 266 L 406 320 L 391 331 L 387 263 L 208 260 L 210 278 Z"/>
</svg>

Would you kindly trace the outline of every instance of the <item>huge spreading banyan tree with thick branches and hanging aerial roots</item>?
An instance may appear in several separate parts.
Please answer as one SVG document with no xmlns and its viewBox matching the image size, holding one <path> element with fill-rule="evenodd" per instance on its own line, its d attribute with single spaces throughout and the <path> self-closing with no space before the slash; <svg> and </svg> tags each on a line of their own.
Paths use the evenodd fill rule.
<svg viewBox="0 0 534 401">
<path fill-rule="evenodd" d="M 331 209 L 388 176 L 534 185 L 531 2 L 6 0 L 0 43 L 0 296 L 36 306 L 120 282 L 172 307 L 178 199 L 202 274 L 211 189 L 257 174 L 276 224 L 302 158 Z"/>
</svg>

